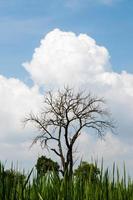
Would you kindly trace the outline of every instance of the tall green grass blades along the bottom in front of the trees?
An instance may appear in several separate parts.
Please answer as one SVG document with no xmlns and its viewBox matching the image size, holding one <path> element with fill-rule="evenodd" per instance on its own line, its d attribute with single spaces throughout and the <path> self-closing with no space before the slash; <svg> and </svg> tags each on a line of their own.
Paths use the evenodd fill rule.
<svg viewBox="0 0 133 200">
<path fill-rule="evenodd" d="M 0 164 L 0 200 L 133 200 L 133 181 L 123 168 L 123 176 L 113 165 L 112 172 L 101 167 L 97 182 L 82 176 L 68 182 L 54 173 L 37 178 L 33 170 L 13 177 Z"/>
</svg>

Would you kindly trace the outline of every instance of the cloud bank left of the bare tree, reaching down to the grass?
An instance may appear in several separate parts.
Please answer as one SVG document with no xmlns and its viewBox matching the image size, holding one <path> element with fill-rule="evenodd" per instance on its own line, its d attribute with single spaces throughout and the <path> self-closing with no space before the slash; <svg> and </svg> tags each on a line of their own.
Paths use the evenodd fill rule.
<svg viewBox="0 0 133 200">
<path fill-rule="evenodd" d="M 29 150 L 35 131 L 23 129 L 22 120 L 31 112 L 37 112 L 42 96 L 37 86 L 29 88 L 15 78 L 0 76 L 0 160 L 8 164 L 19 161 L 29 168 L 39 153 Z M 8 165 L 9 166 L 9 165 Z"/>
</svg>

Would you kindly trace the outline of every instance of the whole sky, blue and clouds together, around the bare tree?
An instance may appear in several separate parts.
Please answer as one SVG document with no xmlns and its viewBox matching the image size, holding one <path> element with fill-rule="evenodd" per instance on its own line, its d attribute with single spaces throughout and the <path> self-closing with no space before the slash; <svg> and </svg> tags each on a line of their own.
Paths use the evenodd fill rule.
<svg viewBox="0 0 133 200">
<path fill-rule="evenodd" d="M 0 0 L 0 160 L 34 165 L 43 151 L 29 148 L 37 132 L 22 120 L 69 84 L 105 97 L 117 122 L 103 141 L 83 132 L 80 157 L 125 161 L 132 174 L 132 21 L 131 0 Z"/>
</svg>

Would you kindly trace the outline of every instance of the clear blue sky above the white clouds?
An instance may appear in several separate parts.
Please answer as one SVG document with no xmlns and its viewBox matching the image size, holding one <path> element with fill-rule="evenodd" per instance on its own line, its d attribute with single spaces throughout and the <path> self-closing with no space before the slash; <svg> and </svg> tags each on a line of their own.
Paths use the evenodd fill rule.
<svg viewBox="0 0 133 200">
<path fill-rule="evenodd" d="M 132 23 L 131 0 L 0 0 L 0 73 L 24 79 L 21 64 L 54 28 L 90 35 L 108 49 L 115 71 L 133 72 Z"/>
</svg>

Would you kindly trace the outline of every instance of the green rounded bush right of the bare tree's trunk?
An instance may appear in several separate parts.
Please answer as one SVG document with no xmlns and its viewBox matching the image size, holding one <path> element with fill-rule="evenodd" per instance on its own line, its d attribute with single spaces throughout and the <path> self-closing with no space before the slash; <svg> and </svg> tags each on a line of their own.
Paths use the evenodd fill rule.
<svg viewBox="0 0 133 200">
<path fill-rule="evenodd" d="M 89 164 L 82 161 L 77 169 L 74 171 L 74 175 L 77 178 L 82 178 L 83 180 L 90 181 L 92 183 L 97 183 L 99 181 L 100 170 L 93 163 Z"/>
</svg>

